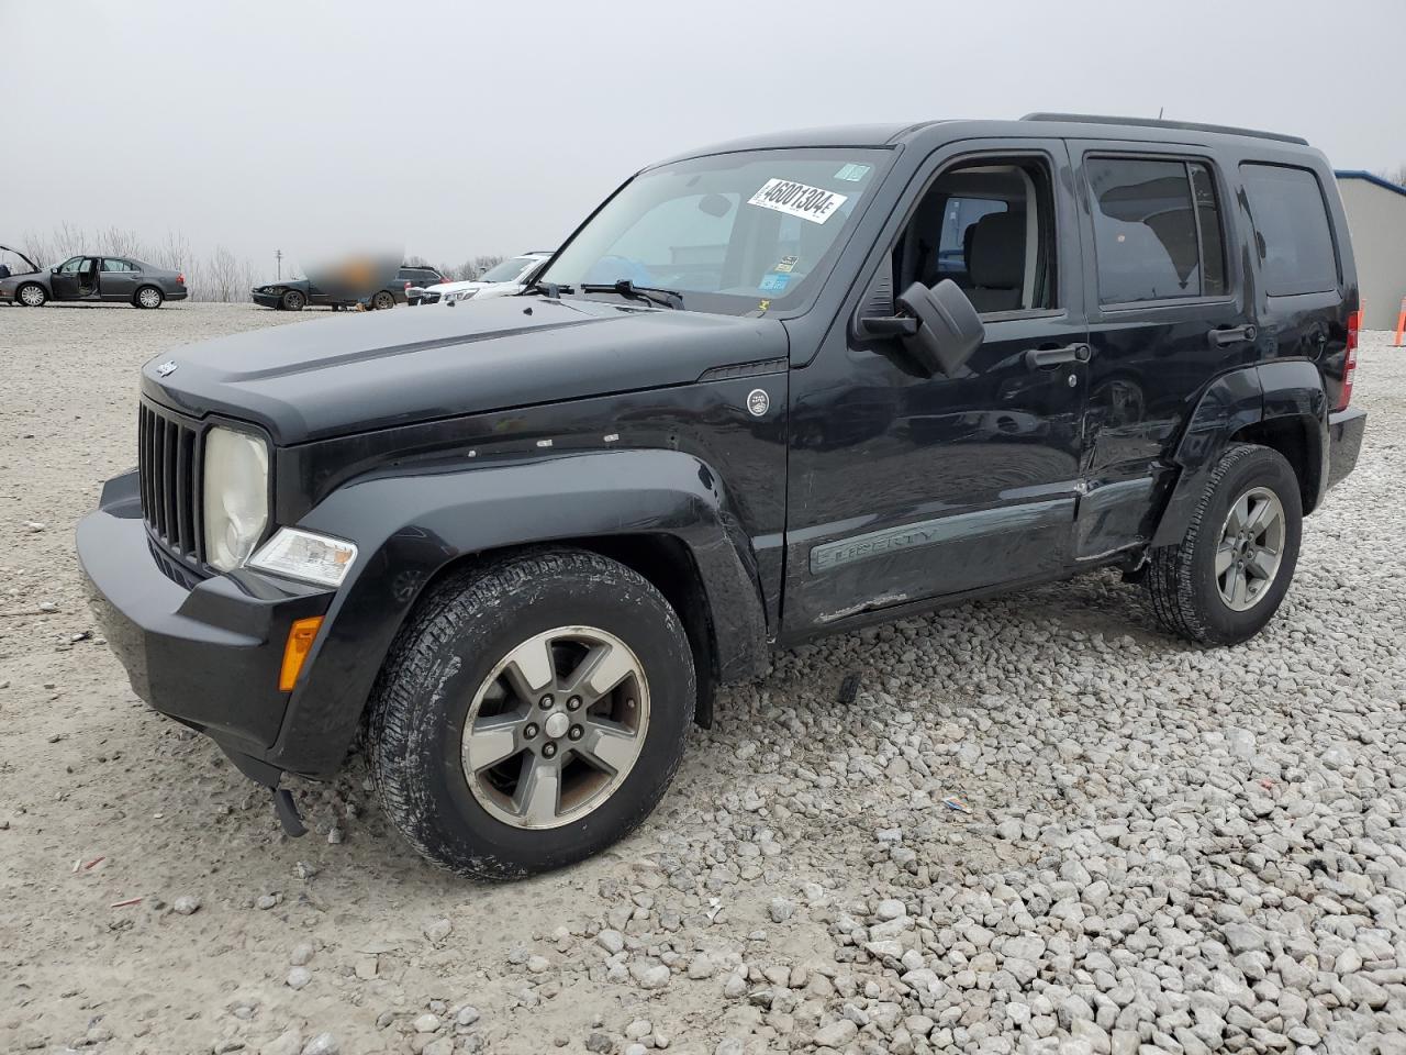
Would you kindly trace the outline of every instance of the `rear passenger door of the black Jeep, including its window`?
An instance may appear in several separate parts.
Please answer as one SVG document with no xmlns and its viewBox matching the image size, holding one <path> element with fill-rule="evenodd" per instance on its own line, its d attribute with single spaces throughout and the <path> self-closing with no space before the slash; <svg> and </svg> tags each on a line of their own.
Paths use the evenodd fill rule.
<svg viewBox="0 0 1406 1055">
<path fill-rule="evenodd" d="M 1254 362 L 1253 315 L 1204 146 L 1070 143 L 1078 169 L 1090 377 L 1077 560 L 1147 542 L 1153 491 L 1216 374 Z"/>
</svg>

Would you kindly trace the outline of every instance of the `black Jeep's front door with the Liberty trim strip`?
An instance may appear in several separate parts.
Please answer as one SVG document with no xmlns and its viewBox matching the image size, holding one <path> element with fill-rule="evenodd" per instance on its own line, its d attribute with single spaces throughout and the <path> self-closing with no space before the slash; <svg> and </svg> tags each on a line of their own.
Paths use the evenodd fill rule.
<svg viewBox="0 0 1406 1055">
<path fill-rule="evenodd" d="M 815 360 L 792 371 L 787 634 L 1073 563 L 1088 331 L 1069 153 L 1062 141 L 1001 146 L 929 162 Z M 979 194 L 988 208 L 953 207 Z M 963 212 L 970 238 L 946 231 Z M 952 270 L 942 246 L 970 257 L 966 293 L 986 326 L 952 377 L 851 325 L 872 279 L 903 290 Z"/>
</svg>

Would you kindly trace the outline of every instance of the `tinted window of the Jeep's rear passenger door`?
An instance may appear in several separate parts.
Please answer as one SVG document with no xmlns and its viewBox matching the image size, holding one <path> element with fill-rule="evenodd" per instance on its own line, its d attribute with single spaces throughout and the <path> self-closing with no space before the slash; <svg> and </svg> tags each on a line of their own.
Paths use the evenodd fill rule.
<svg viewBox="0 0 1406 1055">
<path fill-rule="evenodd" d="M 1201 162 L 1090 158 L 1098 302 L 1220 297 L 1225 235 Z"/>
</svg>

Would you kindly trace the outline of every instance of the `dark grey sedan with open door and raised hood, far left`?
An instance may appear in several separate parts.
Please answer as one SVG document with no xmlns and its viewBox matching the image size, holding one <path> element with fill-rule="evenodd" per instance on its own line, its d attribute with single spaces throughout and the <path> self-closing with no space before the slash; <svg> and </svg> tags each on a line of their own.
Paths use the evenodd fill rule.
<svg viewBox="0 0 1406 1055">
<path fill-rule="evenodd" d="M 0 277 L 0 302 L 39 308 L 49 301 L 111 301 L 159 308 L 187 297 L 181 271 L 129 256 L 70 256 L 45 271 L 18 250 L 10 252 L 21 256 L 31 270 Z"/>
</svg>

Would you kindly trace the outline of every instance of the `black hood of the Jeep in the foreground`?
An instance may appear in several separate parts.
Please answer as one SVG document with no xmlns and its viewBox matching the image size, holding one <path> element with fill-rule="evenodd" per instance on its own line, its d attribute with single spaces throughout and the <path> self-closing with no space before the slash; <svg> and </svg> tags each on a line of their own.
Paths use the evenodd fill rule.
<svg viewBox="0 0 1406 1055">
<path fill-rule="evenodd" d="M 259 425 L 276 443 L 292 445 L 690 384 L 714 367 L 786 350 L 776 319 L 505 297 L 460 311 L 349 314 L 191 345 L 146 363 L 142 392 L 194 416 Z"/>
</svg>

